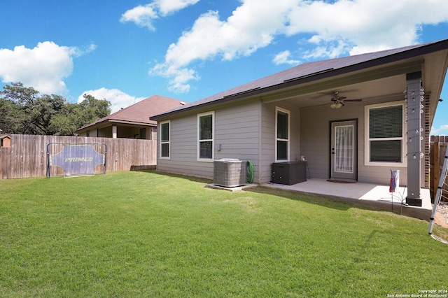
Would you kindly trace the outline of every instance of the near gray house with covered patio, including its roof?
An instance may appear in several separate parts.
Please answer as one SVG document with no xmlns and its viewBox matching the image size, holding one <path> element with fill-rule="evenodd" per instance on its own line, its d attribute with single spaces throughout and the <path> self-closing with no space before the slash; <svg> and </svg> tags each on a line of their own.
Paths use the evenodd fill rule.
<svg viewBox="0 0 448 298">
<path fill-rule="evenodd" d="M 407 203 L 428 187 L 429 131 L 448 40 L 310 62 L 151 117 L 158 170 L 213 178 L 214 160 L 307 160 L 311 178 L 388 185 L 400 170 Z M 344 98 L 345 99 L 344 99 Z"/>
</svg>

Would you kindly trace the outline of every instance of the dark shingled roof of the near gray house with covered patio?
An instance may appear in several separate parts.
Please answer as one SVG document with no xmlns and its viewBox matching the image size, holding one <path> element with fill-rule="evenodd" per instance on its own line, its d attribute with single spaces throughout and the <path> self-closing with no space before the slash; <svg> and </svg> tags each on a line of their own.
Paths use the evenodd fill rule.
<svg viewBox="0 0 448 298">
<path fill-rule="evenodd" d="M 285 71 L 266 76 L 265 78 L 260 78 L 250 83 L 234 87 L 230 90 L 214 94 L 211 97 L 193 101 L 190 104 L 174 108 L 171 111 L 154 115 L 151 117 L 151 120 L 157 120 L 159 118 L 182 113 L 184 111 L 190 111 L 203 106 L 211 106 L 248 96 L 264 94 L 266 92 L 272 92 L 286 87 L 300 85 L 302 83 L 309 83 L 314 80 L 331 78 L 333 76 L 339 76 L 353 71 L 360 71 L 373 66 L 379 66 L 381 64 L 398 62 L 403 59 L 418 57 L 420 55 L 446 49 L 448 49 L 448 40 L 419 45 L 409 45 L 391 50 L 304 63 L 290 69 L 286 69 Z"/>
</svg>

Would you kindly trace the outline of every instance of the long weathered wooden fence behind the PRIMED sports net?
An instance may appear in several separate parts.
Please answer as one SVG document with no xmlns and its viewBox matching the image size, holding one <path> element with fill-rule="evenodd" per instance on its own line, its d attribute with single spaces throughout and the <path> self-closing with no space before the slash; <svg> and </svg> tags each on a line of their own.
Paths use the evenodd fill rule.
<svg viewBox="0 0 448 298">
<path fill-rule="evenodd" d="M 155 169 L 157 164 L 157 141 L 154 140 L 27 134 L 2 134 L 0 140 L 0 179 L 45 177 L 48 143 L 105 143 L 106 173 Z M 51 176 L 62 173 L 60 169 L 52 169 Z"/>
</svg>

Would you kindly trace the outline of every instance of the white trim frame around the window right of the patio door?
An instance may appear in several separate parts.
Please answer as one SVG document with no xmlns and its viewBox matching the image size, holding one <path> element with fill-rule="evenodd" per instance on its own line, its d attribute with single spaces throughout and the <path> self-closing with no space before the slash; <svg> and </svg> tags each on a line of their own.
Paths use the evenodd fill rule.
<svg viewBox="0 0 448 298">
<path fill-rule="evenodd" d="M 387 140 L 396 140 L 400 139 L 402 142 L 401 146 L 401 160 L 402 162 L 370 162 L 370 138 L 369 138 L 369 123 L 370 123 L 370 108 L 384 108 L 387 106 L 402 106 L 402 115 L 403 115 L 403 125 L 401 138 L 390 138 L 390 139 L 381 139 L 384 141 Z M 405 104 L 403 101 L 390 101 L 383 104 L 371 104 L 369 106 L 364 107 L 364 165 L 365 166 L 388 166 L 388 167 L 406 167 L 407 166 L 407 141 L 406 141 L 406 131 L 407 131 L 407 122 L 406 122 L 406 113 L 405 113 Z"/>
</svg>

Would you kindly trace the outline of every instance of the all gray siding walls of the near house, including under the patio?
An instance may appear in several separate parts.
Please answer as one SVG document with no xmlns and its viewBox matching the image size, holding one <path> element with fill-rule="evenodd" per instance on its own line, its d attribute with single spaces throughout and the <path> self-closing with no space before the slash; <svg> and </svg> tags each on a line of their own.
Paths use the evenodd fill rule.
<svg viewBox="0 0 448 298">
<path fill-rule="evenodd" d="M 364 106 L 394 99 L 365 99 L 339 109 L 329 106 L 296 108 L 284 101 L 261 104 L 252 99 L 243 104 L 211 109 L 215 112 L 214 159 L 251 160 L 254 182 L 271 180 L 275 162 L 275 108 L 290 111 L 290 161 L 306 157 L 311 178 L 330 177 L 330 122 L 358 120 L 358 181 L 388 184 L 390 166 L 365 164 Z M 201 111 L 205 112 L 205 111 Z M 218 148 L 221 146 L 221 150 Z M 213 162 L 197 161 L 197 113 L 171 119 L 171 159 L 158 159 L 158 169 L 190 176 L 213 178 Z M 400 185 L 407 183 L 407 171 L 400 169 Z"/>
</svg>

